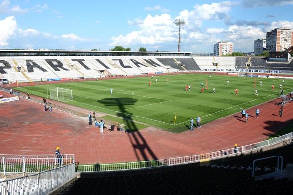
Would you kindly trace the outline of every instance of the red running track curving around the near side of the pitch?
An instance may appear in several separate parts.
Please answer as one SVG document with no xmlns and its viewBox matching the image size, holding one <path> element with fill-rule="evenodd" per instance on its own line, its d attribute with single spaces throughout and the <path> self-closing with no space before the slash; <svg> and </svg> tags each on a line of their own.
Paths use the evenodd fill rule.
<svg viewBox="0 0 293 195">
<path fill-rule="evenodd" d="M 4 93 L 5 96 L 9 94 Z M 278 116 L 277 100 L 257 106 L 260 118 L 244 123 L 231 115 L 180 134 L 148 127 L 135 133 L 104 131 L 86 118 L 58 110 L 45 112 L 42 104 L 21 98 L 0 104 L 0 154 L 54 154 L 56 146 L 74 154 L 80 164 L 166 159 L 202 154 L 265 140 L 293 119 L 293 104 Z M 254 116 L 254 108 L 249 113 Z"/>
</svg>

